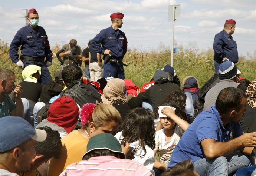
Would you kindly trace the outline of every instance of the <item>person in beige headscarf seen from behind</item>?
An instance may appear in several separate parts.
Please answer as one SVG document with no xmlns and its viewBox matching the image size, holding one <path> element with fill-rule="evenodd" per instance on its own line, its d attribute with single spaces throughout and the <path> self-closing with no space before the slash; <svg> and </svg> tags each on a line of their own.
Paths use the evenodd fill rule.
<svg viewBox="0 0 256 176">
<path fill-rule="evenodd" d="M 103 89 L 102 102 L 114 106 L 122 118 L 131 110 L 125 97 L 126 87 L 124 80 L 115 78 L 109 80 Z"/>
</svg>

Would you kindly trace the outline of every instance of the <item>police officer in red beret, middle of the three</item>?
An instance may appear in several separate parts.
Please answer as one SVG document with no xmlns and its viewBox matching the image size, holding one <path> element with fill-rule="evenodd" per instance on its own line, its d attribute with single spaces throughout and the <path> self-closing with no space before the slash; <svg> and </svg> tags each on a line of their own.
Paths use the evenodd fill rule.
<svg viewBox="0 0 256 176">
<path fill-rule="evenodd" d="M 122 27 L 124 14 L 117 12 L 110 15 L 112 25 L 101 30 L 91 41 L 92 48 L 100 54 L 104 54 L 103 77 L 113 76 L 124 79 L 124 66 L 122 59 L 127 50 L 127 39 L 125 34 L 118 28 Z M 106 62 L 106 56 L 110 59 Z"/>
</svg>

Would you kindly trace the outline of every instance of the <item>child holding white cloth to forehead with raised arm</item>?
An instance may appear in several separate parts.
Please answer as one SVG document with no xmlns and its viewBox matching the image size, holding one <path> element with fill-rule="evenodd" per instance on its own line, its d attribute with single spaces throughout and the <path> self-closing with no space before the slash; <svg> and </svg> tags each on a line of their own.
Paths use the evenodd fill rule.
<svg viewBox="0 0 256 176">
<path fill-rule="evenodd" d="M 160 172 L 166 169 L 174 147 L 189 126 L 188 122 L 177 116 L 183 111 L 179 106 L 174 103 L 164 103 L 163 106 L 169 106 L 161 110 L 161 113 L 167 117 L 160 117 L 160 124 L 163 126 L 163 129 L 155 133 L 154 148 L 154 154 L 156 155 L 158 153 L 160 155 L 160 161 L 155 160 L 154 167 L 160 170 Z"/>
</svg>

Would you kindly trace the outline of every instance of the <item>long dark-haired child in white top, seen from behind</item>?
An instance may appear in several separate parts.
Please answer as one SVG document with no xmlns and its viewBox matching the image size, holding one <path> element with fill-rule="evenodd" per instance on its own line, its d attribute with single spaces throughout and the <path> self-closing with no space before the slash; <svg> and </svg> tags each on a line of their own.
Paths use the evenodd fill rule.
<svg viewBox="0 0 256 176">
<path fill-rule="evenodd" d="M 144 164 L 154 174 L 154 114 L 149 109 L 132 109 L 123 120 L 121 130 L 115 135 L 116 139 L 135 146 L 133 160 Z"/>
</svg>

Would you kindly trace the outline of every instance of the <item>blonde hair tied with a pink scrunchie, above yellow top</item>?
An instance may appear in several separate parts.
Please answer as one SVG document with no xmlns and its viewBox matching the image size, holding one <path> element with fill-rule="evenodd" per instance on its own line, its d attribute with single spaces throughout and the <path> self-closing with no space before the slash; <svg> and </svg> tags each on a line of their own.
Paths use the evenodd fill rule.
<svg viewBox="0 0 256 176">
<path fill-rule="evenodd" d="M 121 121 L 121 115 L 115 107 L 109 104 L 100 103 L 94 108 L 92 117 L 89 119 L 87 124 L 93 122 L 97 129 L 98 127 L 107 126 L 111 122 L 121 124 Z"/>
</svg>

